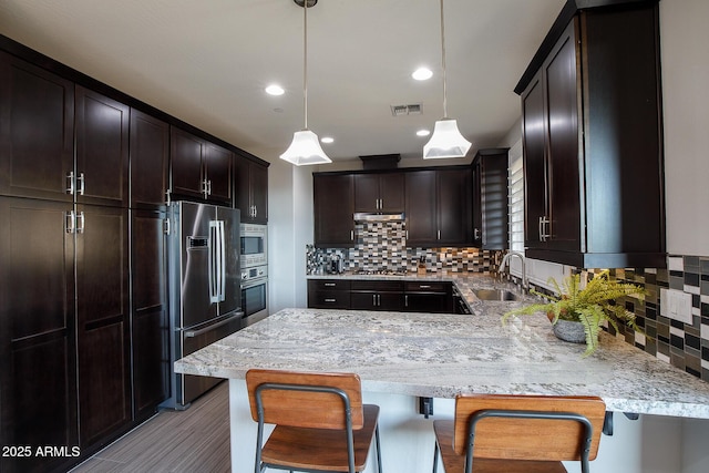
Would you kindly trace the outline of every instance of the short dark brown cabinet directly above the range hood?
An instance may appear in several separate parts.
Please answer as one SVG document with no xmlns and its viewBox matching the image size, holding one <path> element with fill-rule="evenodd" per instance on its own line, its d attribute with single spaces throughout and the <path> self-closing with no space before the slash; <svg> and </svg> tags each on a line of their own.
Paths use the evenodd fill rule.
<svg viewBox="0 0 709 473">
<path fill-rule="evenodd" d="M 354 174 L 354 212 L 403 212 L 404 181 L 401 172 Z"/>
</svg>

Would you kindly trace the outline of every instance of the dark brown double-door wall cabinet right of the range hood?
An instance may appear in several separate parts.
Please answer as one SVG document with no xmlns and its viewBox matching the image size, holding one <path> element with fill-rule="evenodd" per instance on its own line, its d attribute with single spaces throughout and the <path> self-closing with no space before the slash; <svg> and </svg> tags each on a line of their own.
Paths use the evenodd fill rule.
<svg viewBox="0 0 709 473">
<path fill-rule="evenodd" d="M 463 246 L 472 240 L 472 181 L 467 166 L 405 174 L 407 246 Z"/>
</svg>

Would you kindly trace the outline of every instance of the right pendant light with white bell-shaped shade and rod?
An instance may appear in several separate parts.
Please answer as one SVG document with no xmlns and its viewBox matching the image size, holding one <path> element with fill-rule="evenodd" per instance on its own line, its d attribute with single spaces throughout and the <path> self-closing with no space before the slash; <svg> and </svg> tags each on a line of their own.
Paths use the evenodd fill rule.
<svg viewBox="0 0 709 473">
<path fill-rule="evenodd" d="M 445 89 L 445 29 L 443 24 L 443 0 L 441 1 L 441 64 L 443 66 L 443 119 L 435 122 L 431 140 L 423 146 L 423 158 L 465 157 L 471 142 L 458 130 L 458 122 L 448 117 Z"/>
</svg>

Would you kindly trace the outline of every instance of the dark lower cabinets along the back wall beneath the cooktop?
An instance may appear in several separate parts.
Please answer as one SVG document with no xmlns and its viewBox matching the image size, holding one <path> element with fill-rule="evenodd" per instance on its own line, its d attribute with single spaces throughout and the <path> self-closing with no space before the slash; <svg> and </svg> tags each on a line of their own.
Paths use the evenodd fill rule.
<svg viewBox="0 0 709 473">
<path fill-rule="evenodd" d="M 310 279 L 308 307 L 453 313 L 452 289 L 444 281 Z"/>
</svg>

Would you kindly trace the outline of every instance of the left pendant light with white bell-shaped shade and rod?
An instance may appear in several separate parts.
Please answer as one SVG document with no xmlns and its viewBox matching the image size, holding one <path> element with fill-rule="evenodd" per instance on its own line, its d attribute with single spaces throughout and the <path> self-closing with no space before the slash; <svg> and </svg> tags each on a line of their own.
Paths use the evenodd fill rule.
<svg viewBox="0 0 709 473">
<path fill-rule="evenodd" d="M 327 164 L 330 160 L 318 141 L 318 135 L 308 130 L 308 3 L 310 7 L 317 3 L 317 0 L 294 0 L 304 11 L 304 60 L 302 60 L 302 109 L 305 125 L 301 131 L 292 134 L 292 142 L 288 150 L 280 155 L 280 158 L 296 166 L 308 164 Z"/>
</svg>

